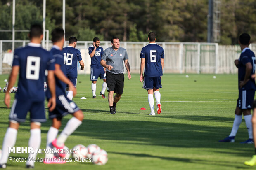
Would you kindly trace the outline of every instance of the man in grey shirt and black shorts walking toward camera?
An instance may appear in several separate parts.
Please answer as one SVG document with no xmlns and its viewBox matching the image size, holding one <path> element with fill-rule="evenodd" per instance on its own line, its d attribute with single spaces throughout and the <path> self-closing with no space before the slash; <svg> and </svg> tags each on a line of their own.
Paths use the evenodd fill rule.
<svg viewBox="0 0 256 170">
<path fill-rule="evenodd" d="M 106 83 L 107 91 L 109 92 L 108 100 L 110 114 L 116 114 L 116 103 L 120 100 L 121 95 L 123 94 L 123 63 L 128 73 L 128 79 L 131 78 L 131 75 L 127 51 L 120 47 L 119 38 L 113 37 L 111 39 L 111 44 L 112 47 L 105 49 L 100 64 L 106 68 Z M 113 98 L 114 93 L 116 93 L 116 95 Z"/>
</svg>

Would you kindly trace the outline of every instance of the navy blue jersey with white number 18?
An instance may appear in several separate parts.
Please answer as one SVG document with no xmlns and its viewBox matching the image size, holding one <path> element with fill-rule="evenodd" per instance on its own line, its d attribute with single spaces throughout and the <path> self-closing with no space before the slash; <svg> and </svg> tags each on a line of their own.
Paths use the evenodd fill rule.
<svg viewBox="0 0 256 170">
<path fill-rule="evenodd" d="M 77 77 L 77 61 L 81 61 L 81 53 L 79 49 L 68 46 L 62 49 L 64 56 L 64 64 L 66 65 L 66 75 Z"/>
</svg>

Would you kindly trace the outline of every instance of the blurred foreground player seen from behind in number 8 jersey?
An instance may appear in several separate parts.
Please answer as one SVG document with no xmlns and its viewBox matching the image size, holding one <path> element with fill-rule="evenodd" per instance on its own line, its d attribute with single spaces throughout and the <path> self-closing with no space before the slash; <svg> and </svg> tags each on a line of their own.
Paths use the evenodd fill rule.
<svg viewBox="0 0 256 170">
<path fill-rule="evenodd" d="M 49 98 L 48 107 L 52 111 L 56 105 L 54 59 L 48 51 L 41 47 L 43 28 L 41 25 L 32 25 L 29 32 L 30 43 L 26 47 L 14 51 L 12 72 L 9 77 L 9 91 L 15 84 L 19 73 L 19 90 L 15 95 L 9 115 L 9 127 L 2 143 L 2 158 L 0 168 L 6 168 L 9 156 L 9 147 L 14 147 L 19 124 L 24 122 L 28 111 L 30 112 L 30 138 L 28 147 L 33 148 L 33 153 L 28 154 L 26 168 L 34 168 L 33 159 L 36 158 L 36 149 L 41 143 L 41 122 L 45 122 L 45 70 L 48 70 L 47 80 L 52 97 Z M 9 107 L 11 97 L 5 93 L 5 105 Z"/>
</svg>

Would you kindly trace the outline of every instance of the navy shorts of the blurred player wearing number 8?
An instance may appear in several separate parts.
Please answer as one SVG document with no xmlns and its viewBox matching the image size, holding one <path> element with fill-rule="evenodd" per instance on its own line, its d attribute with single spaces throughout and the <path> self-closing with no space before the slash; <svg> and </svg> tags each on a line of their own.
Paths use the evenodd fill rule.
<svg viewBox="0 0 256 170">
<path fill-rule="evenodd" d="M 30 112 L 30 121 L 45 122 L 45 101 L 35 102 L 15 99 L 12 104 L 9 120 L 24 122 L 28 112 Z"/>
</svg>

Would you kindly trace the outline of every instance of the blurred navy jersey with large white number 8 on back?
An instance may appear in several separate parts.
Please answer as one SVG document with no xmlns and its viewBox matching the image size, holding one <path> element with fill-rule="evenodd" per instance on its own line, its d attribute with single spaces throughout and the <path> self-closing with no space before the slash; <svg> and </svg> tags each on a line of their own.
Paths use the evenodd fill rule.
<svg viewBox="0 0 256 170">
<path fill-rule="evenodd" d="M 40 44 L 28 43 L 28 46 L 14 51 L 12 66 L 19 66 L 18 100 L 44 101 L 45 70 L 54 70 L 54 59 Z"/>
</svg>

